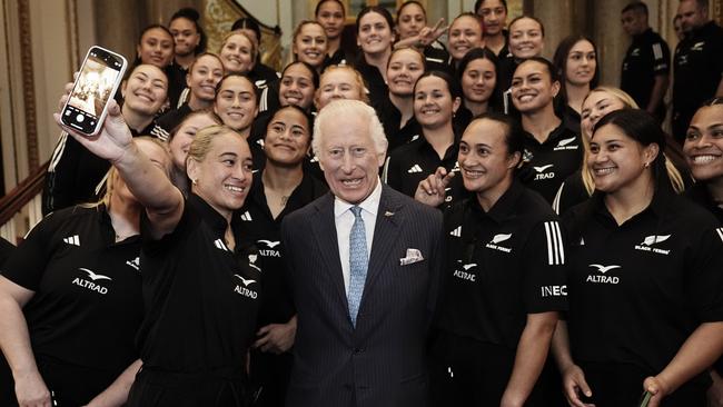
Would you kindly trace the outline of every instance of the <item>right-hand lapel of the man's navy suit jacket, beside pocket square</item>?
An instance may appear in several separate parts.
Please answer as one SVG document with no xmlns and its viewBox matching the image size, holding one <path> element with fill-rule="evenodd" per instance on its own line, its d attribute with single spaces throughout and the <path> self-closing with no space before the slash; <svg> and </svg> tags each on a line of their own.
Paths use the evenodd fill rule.
<svg viewBox="0 0 723 407">
<path fill-rule="evenodd" d="M 377 211 L 377 220 L 374 227 L 374 240 L 372 241 L 372 255 L 369 256 L 369 267 L 367 269 L 367 279 L 364 286 L 364 295 L 361 296 L 361 304 L 359 309 L 364 307 L 367 292 L 374 282 L 379 277 L 384 269 L 389 269 L 389 266 L 395 261 L 389 259 L 389 255 L 395 247 L 395 242 L 402 231 L 400 226 L 404 221 L 404 207 L 395 199 L 395 196 L 389 193 L 388 187 L 383 186 L 382 198 L 379 199 L 379 210 Z"/>
</svg>

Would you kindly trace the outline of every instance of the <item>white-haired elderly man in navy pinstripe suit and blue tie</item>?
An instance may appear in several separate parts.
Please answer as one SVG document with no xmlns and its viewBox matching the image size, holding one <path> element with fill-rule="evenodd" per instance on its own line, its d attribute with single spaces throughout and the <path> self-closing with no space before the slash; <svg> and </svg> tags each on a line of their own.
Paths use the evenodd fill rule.
<svg viewBox="0 0 723 407">
<path fill-rule="evenodd" d="M 314 129 L 330 193 L 281 224 L 298 311 L 287 406 L 425 406 L 442 214 L 382 185 L 367 105 L 334 101 Z"/>
</svg>

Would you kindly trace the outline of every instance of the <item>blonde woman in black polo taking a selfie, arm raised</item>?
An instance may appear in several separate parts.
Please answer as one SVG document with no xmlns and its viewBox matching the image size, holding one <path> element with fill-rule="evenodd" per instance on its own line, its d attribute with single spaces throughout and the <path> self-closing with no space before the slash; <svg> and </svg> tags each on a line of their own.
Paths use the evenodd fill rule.
<svg viewBox="0 0 723 407">
<path fill-rule="evenodd" d="M 187 159 L 191 193 L 185 199 L 139 151 L 112 102 L 98 137 L 71 135 L 111 161 L 145 208 L 146 316 L 137 336 L 143 368 L 128 406 L 246 406 L 260 268 L 258 255 L 239 244 L 231 226 L 251 186 L 245 138 L 225 126 L 196 133 Z"/>
</svg>

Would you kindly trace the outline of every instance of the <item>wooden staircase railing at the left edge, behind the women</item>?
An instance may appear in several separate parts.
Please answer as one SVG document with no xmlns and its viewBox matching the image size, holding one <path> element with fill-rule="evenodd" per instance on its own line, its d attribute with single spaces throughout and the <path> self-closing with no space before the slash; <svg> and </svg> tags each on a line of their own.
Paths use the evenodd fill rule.
<svg viewBox="0 0 723 407">
<path fill-rule="evenodd" d="M 0 236 L 17 244 L 42 219 L 42 187 L 46 162 L 0 199 Z"/>
</svg>

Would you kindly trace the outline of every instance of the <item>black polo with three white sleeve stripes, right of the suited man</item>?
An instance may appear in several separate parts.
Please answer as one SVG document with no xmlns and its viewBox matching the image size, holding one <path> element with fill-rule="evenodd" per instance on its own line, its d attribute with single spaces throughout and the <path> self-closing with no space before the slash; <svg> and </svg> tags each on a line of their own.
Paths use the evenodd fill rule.
<svg viewBox="0 0 723 407">
<path fill-rule="evenodd" d="M 436 325 L 515 349 L 527 315 L 567 309 L 566 246 L 557 216 L 514 181 L 485 212 L 476 198 L 445 211 L 449 250 Z"/>
</svg>

